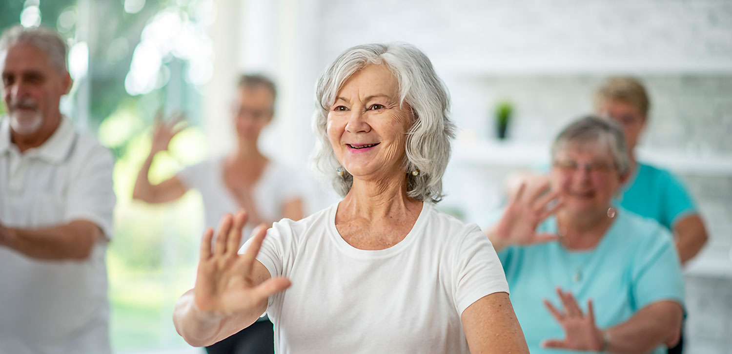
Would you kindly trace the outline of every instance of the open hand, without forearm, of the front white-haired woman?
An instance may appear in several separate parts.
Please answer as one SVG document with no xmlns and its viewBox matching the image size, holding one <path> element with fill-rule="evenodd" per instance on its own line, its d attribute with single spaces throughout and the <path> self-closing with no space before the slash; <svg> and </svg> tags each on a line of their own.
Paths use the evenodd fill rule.
<svg viewBox="0 0 732 354">
<path fill-rule="evenodd" d="M 256 309 L 266 302 L 270 295 L 281 292 L 290 286 L 284 277 L 272 278 L 262 284 L 253 279 L 253 268 L 266 228 L 259 226 L 253 232 L 253 241 L 245 254 L 238 254 L 242 240 L 242 228 L 247 222 L 244 212 L 232 218 L 227 214 L 222 218 L 214 249 L 211 228 L 206 230 L 201 241 L 201 260 L 198 263 L 198 276 L 193 288 L 195 306 L 201 311 L 217 316 L 231 316 L 242 311 Z"/>
</svg>

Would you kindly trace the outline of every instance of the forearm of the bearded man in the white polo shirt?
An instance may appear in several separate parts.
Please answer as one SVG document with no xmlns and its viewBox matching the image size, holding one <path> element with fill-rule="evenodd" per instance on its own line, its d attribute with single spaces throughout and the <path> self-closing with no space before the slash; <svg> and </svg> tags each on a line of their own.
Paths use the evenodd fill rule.
<svg viewBox="0 0 732 354">
<path fill-rule="evenodd" d="M 61 260 L 86 259 L 102 230 L 91 221 L 42 229 L 18 229 L 0 226 L 0 244 L 31 258 Z"/>
</svg>

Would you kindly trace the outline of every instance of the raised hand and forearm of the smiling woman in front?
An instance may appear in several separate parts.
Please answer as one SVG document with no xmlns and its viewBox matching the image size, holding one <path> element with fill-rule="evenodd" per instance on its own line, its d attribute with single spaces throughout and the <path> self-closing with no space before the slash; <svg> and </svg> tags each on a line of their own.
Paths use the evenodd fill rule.
<svg viewBox="0 0 732 354">
<path fill-rule="evenodd" d="M 173 323 L 189 344 L 210 345 L 251 325 L 266 311 L 267 299 L 290 287 L 284 277 L 272 278 L 256 257 L 266 236 L 260 225 L 249 248 L 239 254 L 244 212 L 223 217 L 214 240 L 209 228 L 201 240 L 195 287 L 176 303 Z M 213 244 L 212 244 L 213 242 Z"/>
</svg>

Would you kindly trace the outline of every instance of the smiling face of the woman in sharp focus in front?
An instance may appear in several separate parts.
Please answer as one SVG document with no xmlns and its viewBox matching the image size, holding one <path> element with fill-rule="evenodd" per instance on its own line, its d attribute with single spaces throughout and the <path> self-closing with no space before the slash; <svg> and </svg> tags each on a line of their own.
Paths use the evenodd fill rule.
<svg viewBox="0 0 732 354">
<path fill-rule="evenodd" d="M 326 130 L 338 162 L 362 180 L 403 174 L 411 109 L 399 106 L 397 78 L 383 64 L 351 75 L 329 108 Z"/>
</svg>

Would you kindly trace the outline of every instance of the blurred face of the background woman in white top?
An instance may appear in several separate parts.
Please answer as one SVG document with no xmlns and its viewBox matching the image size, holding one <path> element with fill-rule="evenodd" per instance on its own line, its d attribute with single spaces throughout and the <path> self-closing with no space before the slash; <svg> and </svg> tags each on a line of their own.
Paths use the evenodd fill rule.
<svg viewBox="0 0 732 354">
<path fill-rule="evenodd" d="M 264 86 L 239 87 L 232 115 L 239 140 L 257 141 L 259 133 L 272 120 L 275 98 Z"/>
</svg>

